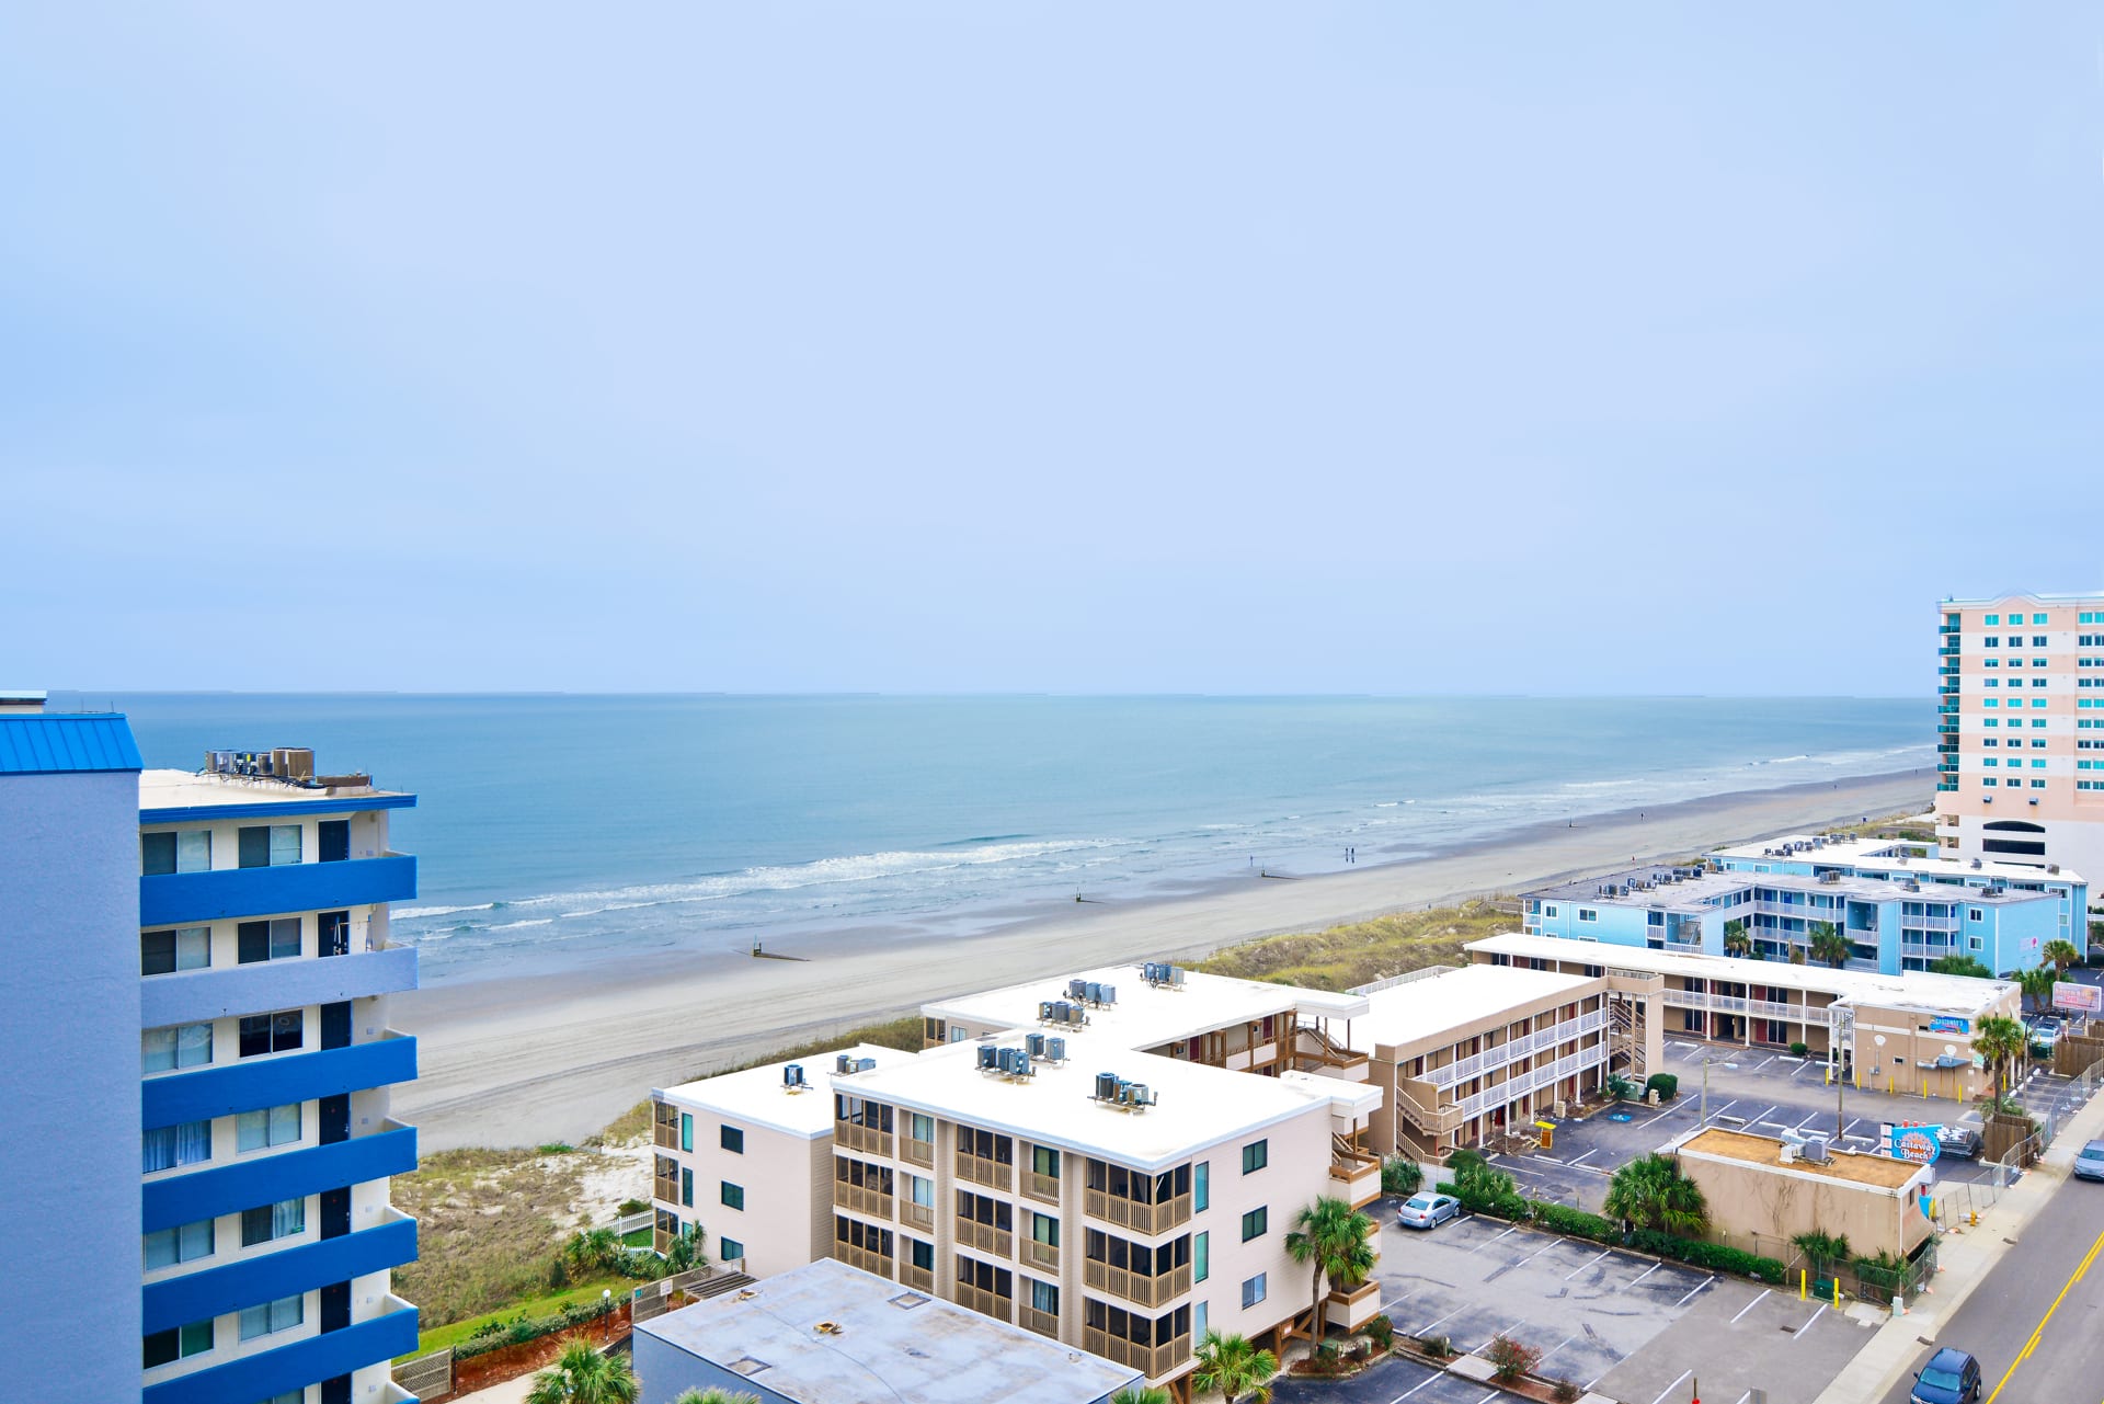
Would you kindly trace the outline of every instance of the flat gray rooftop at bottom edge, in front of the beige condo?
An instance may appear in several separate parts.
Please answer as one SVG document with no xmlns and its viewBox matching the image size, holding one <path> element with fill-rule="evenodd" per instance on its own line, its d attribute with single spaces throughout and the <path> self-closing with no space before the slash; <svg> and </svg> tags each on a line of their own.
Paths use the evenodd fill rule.
<svg viewBox="0 0 2104 1404">
<path fill-rule="evenodd" d="M 797 1404 L 1094 1404 L 1140 1381 L 1130 1366 L 833 1259 L 635 1330 Z"/>
</svg>

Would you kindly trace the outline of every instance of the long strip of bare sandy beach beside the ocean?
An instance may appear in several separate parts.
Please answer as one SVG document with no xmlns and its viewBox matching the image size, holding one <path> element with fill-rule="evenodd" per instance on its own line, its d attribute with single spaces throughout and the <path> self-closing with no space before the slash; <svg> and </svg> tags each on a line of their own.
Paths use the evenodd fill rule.
<svg viewBox="0 0 2104 1404">
<path fill-rule="evenodd" d="M 1283 930 L 1513 892 L 1631 859 L 1925 810 L 1934 770 L 1908 770 L 1536 825 L 1429 859 L 1300 880 L 1220 884 L 1132 903 L 1050 903 L 991 930 L 930 939 L 869 926 L 800 932 L 753 960 L 743 943 L 543 977 L 499 977 L 396 998 L 419 1040 L 419 1080 L 396 1116 L 423 1149 L 579 1141 L 669 1086 L 772 1048 L 911 1012 L 924 1000 L 1119 960 L 1193 960 Z"/>
</svg>

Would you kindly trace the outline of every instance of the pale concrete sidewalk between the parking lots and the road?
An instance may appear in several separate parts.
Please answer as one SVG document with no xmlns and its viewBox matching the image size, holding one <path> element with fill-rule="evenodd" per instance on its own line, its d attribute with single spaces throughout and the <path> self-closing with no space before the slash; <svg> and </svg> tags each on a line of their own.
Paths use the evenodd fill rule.
<svg viewBox="0 0 2104 1404">
<path fill-rule="evenodd" d="M 1953 1229 L 1938 1248 L 1942 1271 L 1923 1297 L 1915 1299 L 1906 1316 L 1879 1326 L 1870 1343 L 1856 1353 L 1856 1360 L 1835 1377 L 1818 1404 L 1862 1404 L 1881 1400 L 1906 1377 L 1906 1366 L 1921 1353 L 1921 1341 L 1934 1341 L 1942 1324 L 1971 1297 L 1986 1273 L 2022 1238 L 2024 1225 L 2039 1212 L 2045 1200 L 2068 1179 L 2075 1151 L 2085 1141 L 2104 1135 L 2104 1097 L 2093 1097 L 2087 1107 L 2062 1124 L 2060 1137 L 2016 1185 L 1984 1215 L 1971 1229 Z"/>
</svg>

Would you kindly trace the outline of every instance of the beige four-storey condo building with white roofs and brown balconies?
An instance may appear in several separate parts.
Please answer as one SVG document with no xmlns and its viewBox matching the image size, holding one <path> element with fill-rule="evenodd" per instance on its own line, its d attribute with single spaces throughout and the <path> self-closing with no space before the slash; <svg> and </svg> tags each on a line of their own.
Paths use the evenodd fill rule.
<svg viewBox="0 0 2104 1404">
<path fill-rule="evenodd" d="M 1294 1217 L 1380 1196 L 1368 1008 L 1117 966 L 928 1004 L 917 1055 L 661 1088 L 659 1242 L 701 1227 L 755 1276 L 829 1255 L 1189 1398 L 1208 1328 L 1277 1345 L 1311 1313 Z M 1376 1311 L 1372 1282 L 1328 1301 Z"/>
</svg>

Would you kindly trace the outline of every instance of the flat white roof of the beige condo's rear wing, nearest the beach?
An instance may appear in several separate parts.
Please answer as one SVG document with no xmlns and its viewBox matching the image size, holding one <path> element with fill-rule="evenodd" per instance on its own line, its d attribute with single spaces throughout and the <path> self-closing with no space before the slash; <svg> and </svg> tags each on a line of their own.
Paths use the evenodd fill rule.
<svg viewBox="0 0 2104 1404">
<path fill-rule="evenodd" d="M 1058 975 L 983 994 L 922 1004 L 928 1019 L 970 1023 L 976 1027 L 1018 1029 L 1037 1023 L 1044 1000 L 1065 1000 L 1067 981 L 1081 979 L 1115 985 L 1117 1002 L 1088 1008 L 1088 1027 L 1128 1048 L 1159 1048 L 1161 1044 L 1250 1023 L 1269 1015 L 1307 1012 L 1323 1019 L 1351 1019 L 1365 1012 L 1365 998 L 1296 989 L 1269 981 L 1246 981 L 1231 975 L 1187 970 L 1182 985 L 1149 985 L 1140 966 L 1098 966 L 1079 975 Z"/>
</svg>

